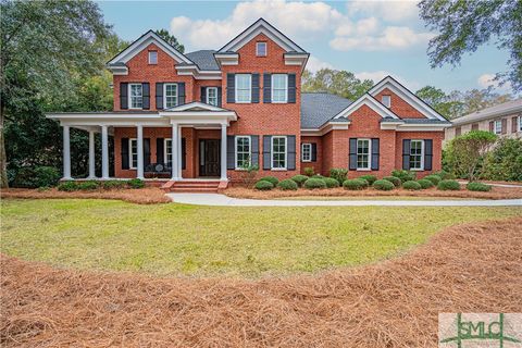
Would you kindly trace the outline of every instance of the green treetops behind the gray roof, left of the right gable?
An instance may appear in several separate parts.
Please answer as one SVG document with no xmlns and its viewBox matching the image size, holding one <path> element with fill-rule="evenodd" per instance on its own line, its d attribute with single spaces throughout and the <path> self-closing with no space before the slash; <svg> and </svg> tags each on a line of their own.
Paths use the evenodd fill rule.
<svg viewBox="0 0 522 348">
<path fill-rule="evenodd" d="M 301 77 L 302 91 L 327 91 L 356 100 L 373 86 L 373 80 L 360 80 L 353 73 L 322 69 L 315 74 L 306 71 Z"/>
</svg>

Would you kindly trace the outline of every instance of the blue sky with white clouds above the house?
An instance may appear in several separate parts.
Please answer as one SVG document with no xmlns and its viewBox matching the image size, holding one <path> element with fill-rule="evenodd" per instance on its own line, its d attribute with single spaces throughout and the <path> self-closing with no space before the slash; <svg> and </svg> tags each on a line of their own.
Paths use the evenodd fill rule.
<svg viewBox="0 0 522 348">
<path fill-rule="evenodd" d="M 375 83 L 391 75 L 411 90 L 431 85 L 449 92 L 498 87 L 494 74 L 509 53 L 493 44 L 463 57 L 459 66 L 431 69 L 428 40 L 415 1 L 98 1 L 124 40 L 165 28 L 186 52 L 220 49 L 259 17 L 311 53 L 307 69 L 346 70 Z"/>
</svg>

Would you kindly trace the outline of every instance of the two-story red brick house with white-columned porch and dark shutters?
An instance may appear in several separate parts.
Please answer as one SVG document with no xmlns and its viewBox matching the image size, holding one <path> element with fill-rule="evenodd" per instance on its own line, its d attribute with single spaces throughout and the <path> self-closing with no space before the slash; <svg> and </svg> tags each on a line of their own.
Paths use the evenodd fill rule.
<svg viewBox="0 0 522 348">
<path fill-rule="evenodd" d="M 213 178 L 223 187 L 249 162 L 278 178 L 308 166 L 349 169 L 350 177 L 440 170 L 448 121 L 389 76 L 356 101 L 301 92 L 308 58 L 262 18 L 217 51 L 182 54 L 148 32 L 108 64 L 114 111 L 48 115 L 63 126 L 64 178 L 70 127 L 90 134 L 89 177 L 95 133 L 102 178 L 112 135 L 116 177 L 164 177 L 167 186 Z"/>
</svg>

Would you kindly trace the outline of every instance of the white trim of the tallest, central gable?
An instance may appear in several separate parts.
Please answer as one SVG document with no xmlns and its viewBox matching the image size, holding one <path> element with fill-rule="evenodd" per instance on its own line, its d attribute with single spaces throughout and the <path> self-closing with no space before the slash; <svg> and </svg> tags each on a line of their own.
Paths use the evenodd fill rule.
<svg viewBox="0 0 522 348">
<path fill-rule="evenodd" d="M 235 52 L 241 47 L 244 47 L 247 42 L 252 40 L 259 34 L 266 35 L 271 40 L 276 42 L 287 52 L 295 51 L 299 53 L 306 53 L 302 48 L 300 48 L 297 44 L 291 41 L 288 37 L 286 37 L 283 33 L 277 30 L 274 26 L 272 26 L 263 18 L 259 18 L 256 23 L 250 25 L 245 32 L 236 36 L 232 41 L 221 48 L 219 52 Z"/>
</svg>

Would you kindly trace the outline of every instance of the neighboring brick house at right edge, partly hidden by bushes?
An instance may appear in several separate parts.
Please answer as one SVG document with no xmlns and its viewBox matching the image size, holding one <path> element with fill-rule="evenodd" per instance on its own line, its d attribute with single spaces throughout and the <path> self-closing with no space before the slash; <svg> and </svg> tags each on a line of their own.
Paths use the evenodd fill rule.
<svg viewBox="0 0 522 348">
<path fill-rule="evenodd" d="M 499 136 L 522 138 L 522 99 L 486 108 L 451 122 L 451 127 L 446 128 L 446 141 L 470 130 L 489 130 Z"/>
</svg>

